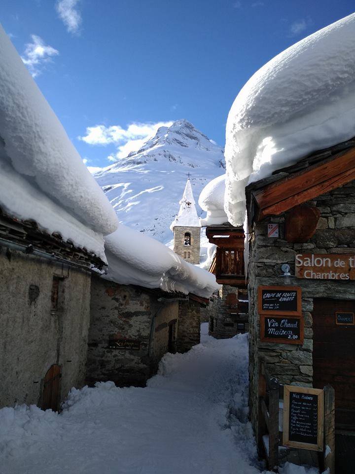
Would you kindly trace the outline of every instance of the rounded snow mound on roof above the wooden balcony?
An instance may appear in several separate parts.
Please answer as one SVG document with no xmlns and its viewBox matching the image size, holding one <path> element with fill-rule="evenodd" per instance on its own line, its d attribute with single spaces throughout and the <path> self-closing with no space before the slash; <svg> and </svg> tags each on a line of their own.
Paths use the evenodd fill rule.
<svg viewBox="0 0 355 474">
<path fill-rule="evenodd" d="M 205 219 L 201 219 L 202 226 L 224 224 L 228 217 L 224 211 L 225 174 L 217 176 L 202 190 L 199 197 L 201 209 L 207 212 Z"/>
</svg>

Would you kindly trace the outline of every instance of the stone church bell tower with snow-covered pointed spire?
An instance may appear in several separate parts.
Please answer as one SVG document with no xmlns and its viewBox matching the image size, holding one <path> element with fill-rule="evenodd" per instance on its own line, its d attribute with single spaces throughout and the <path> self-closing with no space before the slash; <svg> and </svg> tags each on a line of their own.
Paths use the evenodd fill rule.
<svg viewBox="0 0 355 474">
<path fill-rule="evenodd" d="M 179 201 L 178 215 L 170 229 L 174 232 L 174 252 L 192 264 L 200 263 L 200 220 L 197 216 L 190 178 Z"/>
</svg>

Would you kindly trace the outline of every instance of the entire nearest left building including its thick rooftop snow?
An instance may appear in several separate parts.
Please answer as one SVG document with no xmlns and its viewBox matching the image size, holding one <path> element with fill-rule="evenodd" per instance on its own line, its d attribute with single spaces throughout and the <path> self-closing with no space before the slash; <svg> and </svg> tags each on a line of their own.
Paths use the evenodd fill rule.
<svg viewBox="0 0 355 474">
<path fill-rule="evenodd" d="M 0 26 L 0 407 L 85 379 L 91 269 L 112 206 Z"/>
</svg>

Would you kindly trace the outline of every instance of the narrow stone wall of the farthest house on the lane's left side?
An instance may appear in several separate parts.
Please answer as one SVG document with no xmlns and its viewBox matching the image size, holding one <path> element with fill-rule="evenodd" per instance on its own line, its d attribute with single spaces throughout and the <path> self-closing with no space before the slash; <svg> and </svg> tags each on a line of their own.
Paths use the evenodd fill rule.
<svg viewBox="0 0 355 474">
<path fill-rule="evenodd" d="M 200 303 L 179 301 L 177 351 L 184 353 L 200 343 Z"/>
</svg>

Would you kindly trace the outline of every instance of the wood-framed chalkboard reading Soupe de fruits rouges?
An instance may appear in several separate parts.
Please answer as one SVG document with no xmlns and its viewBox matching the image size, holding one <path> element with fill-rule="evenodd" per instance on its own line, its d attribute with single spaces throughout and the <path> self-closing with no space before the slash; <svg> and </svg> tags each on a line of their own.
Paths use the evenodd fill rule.
<svg viewBox="0 0 355 474">
<path fill-rule="evenodd" d="M 300 316 L 301 298 L 299 286 L 259 286 L 259 314 Z"/>
</svg>

